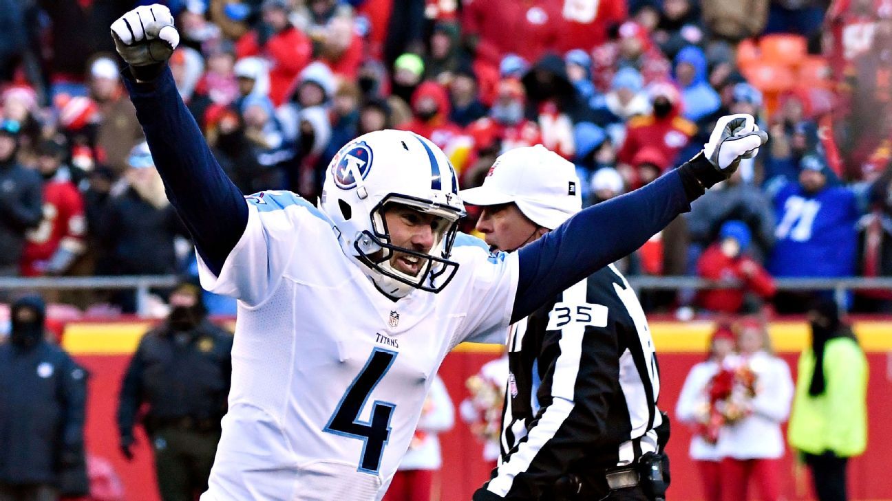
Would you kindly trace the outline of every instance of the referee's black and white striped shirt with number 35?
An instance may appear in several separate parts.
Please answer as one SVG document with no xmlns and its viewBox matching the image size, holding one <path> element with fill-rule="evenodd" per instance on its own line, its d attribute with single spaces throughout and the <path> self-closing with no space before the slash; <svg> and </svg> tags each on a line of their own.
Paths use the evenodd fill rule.
<svg viewBox="0 0 892 501">
<path fill-rule="evenodd" d="M 499 467 L 475 500 L 547 499 L 568 472 L 584 482 L 657 449 L 657 357 L 615 267 L 514 324 L 508 365 Z"/>
</svg>

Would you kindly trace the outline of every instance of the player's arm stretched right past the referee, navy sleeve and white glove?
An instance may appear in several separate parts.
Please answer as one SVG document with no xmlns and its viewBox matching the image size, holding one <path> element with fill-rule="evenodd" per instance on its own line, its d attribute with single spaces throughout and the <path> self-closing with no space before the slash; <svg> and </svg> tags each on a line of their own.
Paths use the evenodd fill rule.
<svg viewBox="0 0 892 501">
<path fill-rule="evenodd" d="M 748 115 L 718 121 L 704 151 L 653 183 L 584 209 L 519 250 L 520 276 L 511 322 L 582 278 L 620 259 L 665 228 L 740 159 L 751 158 L 768 136 Z"/>
</svg>

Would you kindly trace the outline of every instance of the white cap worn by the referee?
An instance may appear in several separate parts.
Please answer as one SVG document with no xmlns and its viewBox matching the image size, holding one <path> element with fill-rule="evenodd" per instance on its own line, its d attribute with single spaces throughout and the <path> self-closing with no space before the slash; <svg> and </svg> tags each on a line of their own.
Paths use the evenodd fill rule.
<svg viewBox="0 0 892 501">
<path fill-rule="evenodd" d="M 460 195 L 472 205 L 514 202 L 533 223 L 553 230 L 582 209 L 579 190 L 574 165 L 536 144 L 502 153 L 483 185 Z"/>
</svg>

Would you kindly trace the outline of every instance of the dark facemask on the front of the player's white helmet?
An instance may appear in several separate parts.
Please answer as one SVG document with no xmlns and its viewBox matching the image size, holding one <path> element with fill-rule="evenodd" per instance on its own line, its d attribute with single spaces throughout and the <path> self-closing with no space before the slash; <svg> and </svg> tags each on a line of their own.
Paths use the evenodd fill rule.
<svg viewBox="0 0 892 501">
<path fill-rule="evenodd" d="M 428 252 L 401 247 L 392 242 L 384 212 L 395 204 L 442 219 L 442 229 L 434 231 L 434 243 Z M 388 194 L 369 212 L 372 231 L 363 231 L 354 242 L 357 257 L 360 262 L 384 275 L 384 280 L 376 281 L 376 285 L 389 296 L 402 297 L 412 289 L 440 292 L 458 271 L 458 263 L 449 258 L 458 234 L 458 219 L 463 215 L 460 209 L 447 204 Z M 410 275 L 393 267 L 391 259 L 394 252 L 419 259 L 421 267 L 417 274 Z"/>
</svg>

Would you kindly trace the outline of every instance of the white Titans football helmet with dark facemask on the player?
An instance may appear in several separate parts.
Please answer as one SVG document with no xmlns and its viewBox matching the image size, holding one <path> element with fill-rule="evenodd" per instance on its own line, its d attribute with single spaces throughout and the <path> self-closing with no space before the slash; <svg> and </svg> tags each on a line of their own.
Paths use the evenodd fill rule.
<svg viewBox="0 0 892 501">
<path fill-rule="evenodd" d="M 383 214 L 389 203 L 444 220 L 429 253 L 393 245 Z M 413 289 L 440 292 L 458 270 L 449 259 L 458 219 L 465 215 L 458 177 L 442 150 L 422 136 L 379 130 L 345 145 L 328 164 L 319 209 L 340 232 L 344 253 L 365 265 L 363 271 L 388 296 L 401 298 Z M 423 259 L 417 275 L 392 267 L 393 251 Z"/>
</svg>

